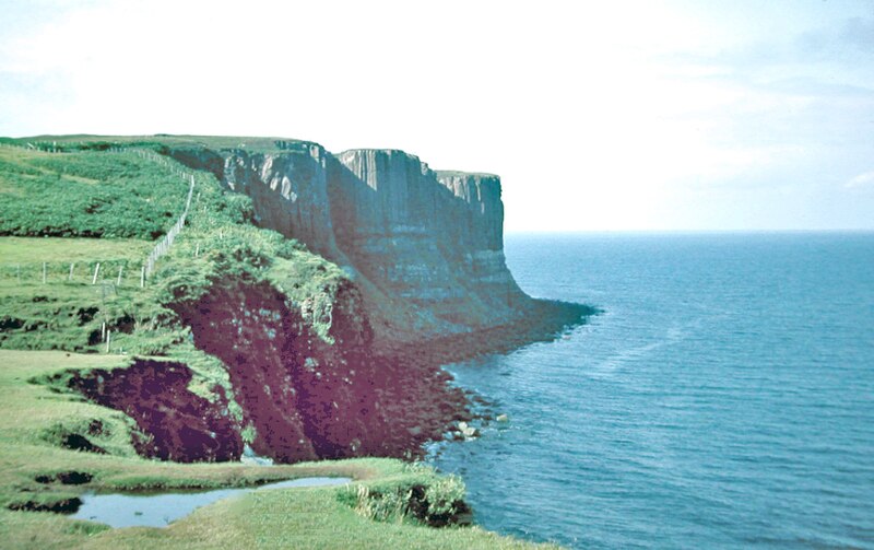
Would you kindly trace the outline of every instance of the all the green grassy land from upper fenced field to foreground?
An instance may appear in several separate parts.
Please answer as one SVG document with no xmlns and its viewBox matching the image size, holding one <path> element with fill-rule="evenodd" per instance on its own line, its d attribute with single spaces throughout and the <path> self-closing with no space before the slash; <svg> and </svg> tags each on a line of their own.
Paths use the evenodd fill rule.
<svg viewBox="0 0 874 550">
<path fill-rule="evenodd" d="M 227 367 L 194 346 L 175 307 L 227 280 L 268 285 L 288 307 L 306 304 L 314 333 L 332 343 L 330 320 L 318 311 L 345 274 L 295 241 L 252 225 L 249 199 L 225 191 L 211 174 L 193 173 L 184 231 L 143 277 L 146 256 L 181 214 L 190 185 L 182 166 L 143 152 L 160 150 L 162 140 L 114 140 L 127 145 L 120 149 L 87 137 L 37 143 L 63 153 L 0 144 L 0 546 L 529 547 L 476 527 L 428 527 L 456 512 L 463 485 L 426 467 L 381 458 L 275 467 L 144 458 L 149 434 L 131 416 L 71 389 L 71 381 L 130 368 L 135 358 L 178 362 L 190 370 L 185 390 L 224 403 L 227 421 L 250 441 L 253 428 Z M 275 147 L 274 140 L 247 144 Z M 55 513 L 85 491 L 241 487 L 314 475 L 355 481 L 248 493 L 164 529 L 110 529 Z"/>
</svg>

